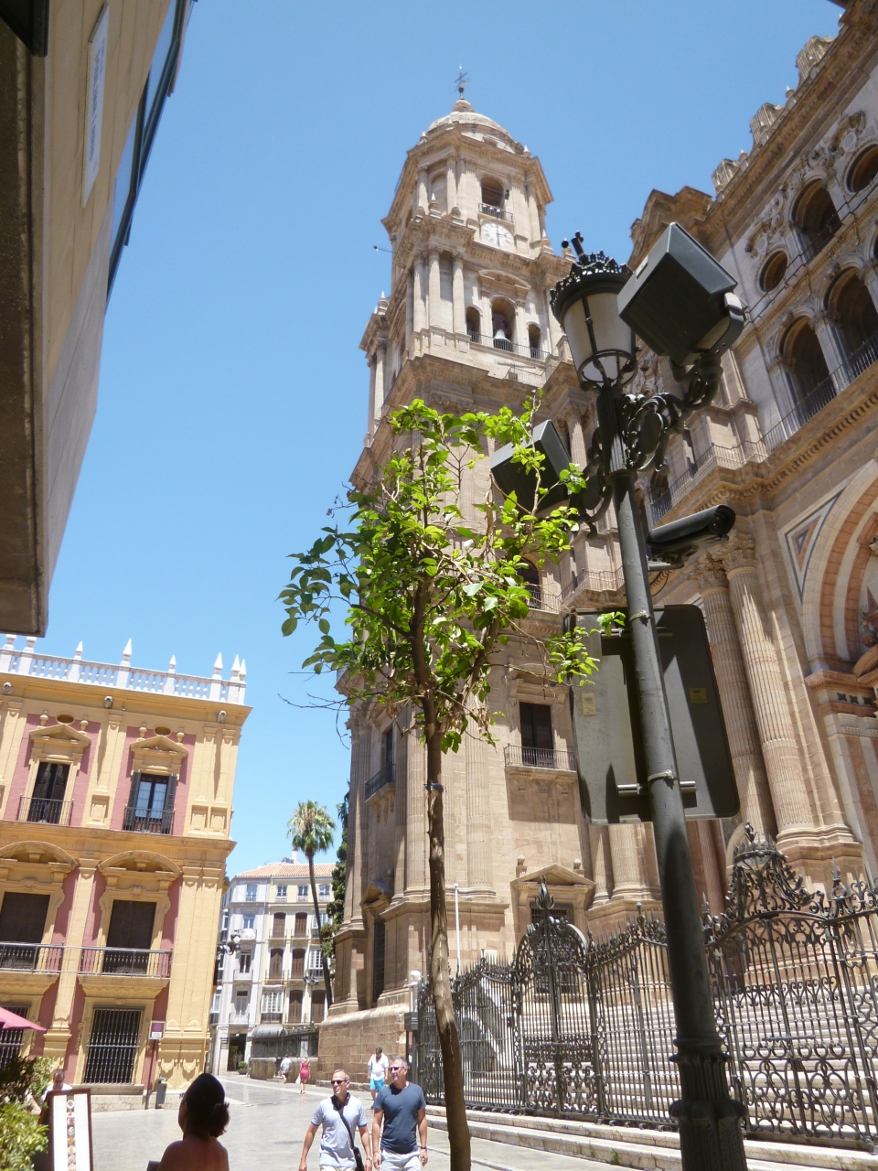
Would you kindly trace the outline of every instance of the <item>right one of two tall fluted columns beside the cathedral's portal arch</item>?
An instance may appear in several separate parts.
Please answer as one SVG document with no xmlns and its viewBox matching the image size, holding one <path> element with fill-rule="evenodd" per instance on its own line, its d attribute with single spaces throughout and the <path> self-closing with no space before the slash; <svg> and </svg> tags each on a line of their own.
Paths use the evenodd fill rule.
<svg viewBox="0 0 878 1171">
<path fill-rule="evenodd" d="M 726 566 L 741 656 L 762 742 L 778 840 L 782 843 L 784 835 L 796 828 L 811 829 L 814 817 L 802 775 L 783 674 L 771 641 L 771 628 L 763 610 L 753 539 L 747 533 L 733 532 L 720 556 Z"/>
</svg>

